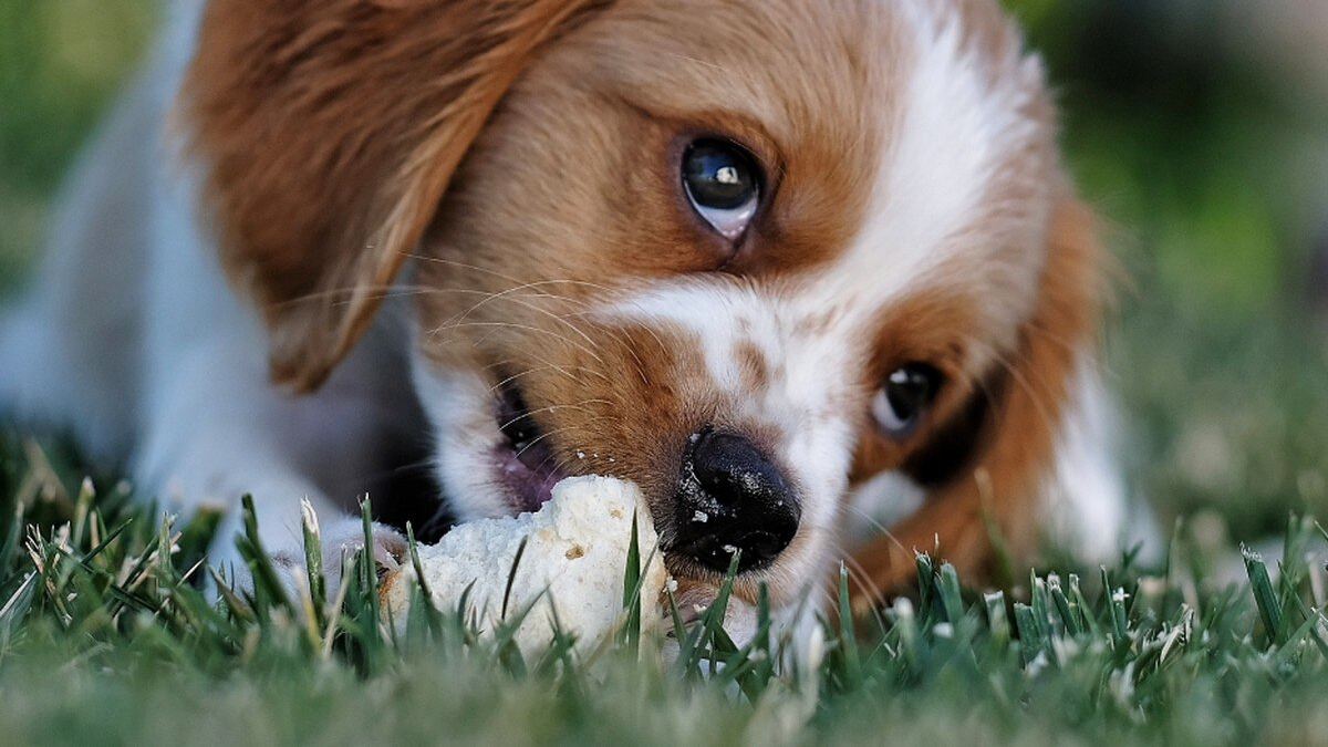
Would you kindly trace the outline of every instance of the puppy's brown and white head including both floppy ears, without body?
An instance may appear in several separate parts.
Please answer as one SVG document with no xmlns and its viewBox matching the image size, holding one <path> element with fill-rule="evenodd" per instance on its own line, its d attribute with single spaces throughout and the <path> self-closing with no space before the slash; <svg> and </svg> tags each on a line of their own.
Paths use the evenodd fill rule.
<svg viewBox="0 0 1328 747">
<path fill-rule="evenodd" d="M 858 482 L 1048 468 L 1094 261 L 995 0 L 211 0 L 183 93 L 278 380 L 409 262 L 461 518 L 627 477 L 780 601 Z"/>
</svg>

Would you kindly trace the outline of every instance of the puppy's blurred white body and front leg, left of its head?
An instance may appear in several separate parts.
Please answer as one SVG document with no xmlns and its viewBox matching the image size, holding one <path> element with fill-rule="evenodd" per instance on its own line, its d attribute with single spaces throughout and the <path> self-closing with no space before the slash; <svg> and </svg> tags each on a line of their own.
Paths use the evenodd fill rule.
<svg viewBox="0 0 1328 747">
<path fill-rule="evenodd" d="M 418 417 L 393 312 L 316 395 L 268 381 L 262 324 L 227 286 L 193 170 L 165 134 L 199 7 L 173 7 L 74 174 L 33 290 L 0 320 L 0 405 L 127 457 L 143 494 L 227 509 L 226 532 L 252 493 L 262 540 L 283 553 L 300 544 L 299 501 L 345 514 L 388 467 L 377 445 Z M 218 550 L 234 558 L 228 541 Z"/>
</svg>

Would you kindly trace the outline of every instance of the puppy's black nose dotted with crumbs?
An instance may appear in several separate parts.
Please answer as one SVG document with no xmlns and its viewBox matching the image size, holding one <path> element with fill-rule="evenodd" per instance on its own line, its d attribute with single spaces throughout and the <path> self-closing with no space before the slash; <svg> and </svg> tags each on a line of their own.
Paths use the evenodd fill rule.
<svg viewBox="0 0 1328 747">
<path fill-rule="evenodd" d="M 801 516 L 793 489 L 756 444 L 706 428 L 683 459 L 669 552 L 722 573 L 741 550 L 738 569 L 757 569 L 789 546 Z"/>
</svg>

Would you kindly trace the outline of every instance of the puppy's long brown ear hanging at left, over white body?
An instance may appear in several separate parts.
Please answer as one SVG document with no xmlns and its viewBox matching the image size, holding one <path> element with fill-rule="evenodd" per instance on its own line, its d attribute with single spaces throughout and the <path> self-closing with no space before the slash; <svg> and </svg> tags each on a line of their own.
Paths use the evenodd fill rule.
<svg viewBox="0 0 1328 747">
<path fill-rule="evenodd" d="M 316 388 L 539 47 L 604 0 L 210 0 L 181 97 L 272 377 Z"/>
</svg>

